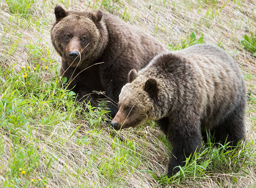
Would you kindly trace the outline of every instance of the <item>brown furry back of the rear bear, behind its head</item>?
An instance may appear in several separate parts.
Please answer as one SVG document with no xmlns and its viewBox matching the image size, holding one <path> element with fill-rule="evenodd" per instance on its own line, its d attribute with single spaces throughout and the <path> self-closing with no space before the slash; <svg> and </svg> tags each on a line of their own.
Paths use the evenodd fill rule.
<svg viewBox="0 0 256 188">
<path fill-rule="evenodd" d="M 140 70 L 154 56 L 167 51 L 151 34 L 139 30 L 113 14 L 104 12 L 103 22 L 108 29 L 109 36 L 108 46 L 103 56 L 109 56 L 119 62 L 133 60 L 136 63 L 133 63 L 132 68 Z"/>
</svg>

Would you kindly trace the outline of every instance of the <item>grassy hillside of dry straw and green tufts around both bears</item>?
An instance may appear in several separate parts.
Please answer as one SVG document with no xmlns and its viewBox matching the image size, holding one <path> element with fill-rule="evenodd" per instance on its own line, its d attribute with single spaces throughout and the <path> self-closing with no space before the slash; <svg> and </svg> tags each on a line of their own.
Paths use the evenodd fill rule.
<svg viewBox="0 0 256 188">
<path fill-rule="evenodd" d="M 0 1 L 0 187 L 255 187 L 253 1 Z M 75 94 L 60 88 L 60 57 L 50 41 L 59 4 L 101 7 L 170 50 L 196 43 L 225 49 L 247 82 L 247 142 L 237 150 L 204 144 L 175 177 L 161 176 L 171 146 L 153 122 L 115 131 L 104 104 L 84 113 Z"/>
</svg>

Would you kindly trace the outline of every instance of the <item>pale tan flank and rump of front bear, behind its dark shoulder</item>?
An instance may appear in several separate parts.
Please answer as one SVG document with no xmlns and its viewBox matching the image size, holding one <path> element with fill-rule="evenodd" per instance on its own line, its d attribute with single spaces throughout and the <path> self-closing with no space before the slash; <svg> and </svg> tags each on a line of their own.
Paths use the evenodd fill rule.
<svg viewBox="0 0 256 188">
<path fill-rule="evenodd" d="M 189 63 L 194 73 L 196 95 L 201 103 L 201 118 L 214 127 L 240 103 L 245 101 L 245 83 L 238 64 L 216 46 L 198 44 L 177 55 Z"/>
</svg>

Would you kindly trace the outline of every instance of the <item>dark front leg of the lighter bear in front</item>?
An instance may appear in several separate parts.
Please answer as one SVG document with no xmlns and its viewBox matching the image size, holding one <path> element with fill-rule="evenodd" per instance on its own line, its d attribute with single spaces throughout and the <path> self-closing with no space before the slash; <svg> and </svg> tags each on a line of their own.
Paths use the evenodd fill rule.
<svg viewBox="0 0 256 188">
<path fill-rule="evenodd" d="M 172 144 L 172 159 L 170 159 L 168 176 L 171 177 L 179 172 L 179 165 L 182 167 L 186 157 L 199 151 L 201 147 L 201 132 L 199 123 L 192 125 L 191 122 L 174 124 L 167 136 Z"/>
</svg>

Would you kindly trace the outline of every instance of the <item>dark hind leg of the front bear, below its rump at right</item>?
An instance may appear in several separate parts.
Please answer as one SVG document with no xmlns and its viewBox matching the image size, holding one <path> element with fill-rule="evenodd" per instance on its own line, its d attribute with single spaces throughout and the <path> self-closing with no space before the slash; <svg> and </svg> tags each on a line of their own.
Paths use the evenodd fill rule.
<svg viewBox="0 0 256 188">
<path fill-rule="evenodd" d="M 241 103 L 225 120 L 214 128 L 215 142 L 237 145 L 239 140 L 245 140 L 245 103 Z"/>
</svg>

